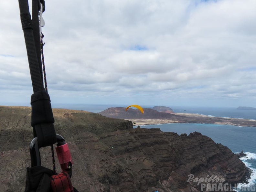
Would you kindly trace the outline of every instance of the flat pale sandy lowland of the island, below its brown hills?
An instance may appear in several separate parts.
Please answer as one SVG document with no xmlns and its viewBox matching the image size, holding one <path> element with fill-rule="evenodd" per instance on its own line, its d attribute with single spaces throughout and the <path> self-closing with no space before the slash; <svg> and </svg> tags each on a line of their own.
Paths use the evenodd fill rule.
<svg viewBox="0 0 256 192">
<path fill-rule="evenodd" d="M 200 123 L 200 124 L 223 124 L 234 125 L 240 127 L 256 127 L 256 120 L 254 119 L 241 119 L 231 117 L 214 117 L 196 113 L 174 113 L 180 118 L 178 119 L 126 119 L 135 122 L 136 125 L 155 125 L 167 123 Z"/>
</svg>

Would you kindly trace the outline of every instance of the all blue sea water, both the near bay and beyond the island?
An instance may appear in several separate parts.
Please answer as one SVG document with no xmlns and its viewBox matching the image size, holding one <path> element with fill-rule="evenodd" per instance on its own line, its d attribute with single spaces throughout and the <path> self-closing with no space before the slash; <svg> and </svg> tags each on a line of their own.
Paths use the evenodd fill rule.
<svg viewBox="0 0 256 192">
<path fill-rule="evenodd" d="M 85 110 L 90 112 L 101 112 L 109 107 L 126 107 L 128 105 L 97 105 L 97 104 L 70 104 L 70 105 L 53 105 L 53 108 L 66 108 Z M 154 106 L 142 106 L 153 108 Z M 255 119 L 256 111 L 243 111 L 236 108 L 226 107 L 186 107 L 186 106 L 170 106 L 174 112 L 198 113 L 216 117 L 233 117 L 242 119 Z M 134 126 L 136 128 L 137 125 Z M 174 132 L 177 134 L 200 132 L 212 138 L 216 143 L 227 146 L 233 153 L 243 151 L 247 156 L 241 160 L 249 167 L 253 173 L 248 184 L 240 184 L 237 191 L 255 191 L 256 190 L 256 127 L 239 127 L 233 125 L 219 124 L 198 124 L 198 123 L 168 123 L 157 125 L 141 125 L 142 128 L 160 128 L 164 132 Z"/>
</svg>

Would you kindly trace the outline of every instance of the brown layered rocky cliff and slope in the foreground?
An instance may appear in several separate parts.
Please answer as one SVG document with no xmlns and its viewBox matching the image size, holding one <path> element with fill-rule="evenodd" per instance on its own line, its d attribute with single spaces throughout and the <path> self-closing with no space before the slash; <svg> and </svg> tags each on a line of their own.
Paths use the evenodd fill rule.
<svg viewBox="0 0 256 192">
<path fill-rule="evenodd" d="M 0 107 L 0 191 L 24 191 L 32 139 L 29 107 Z M 85 111 L 53 109 L 56 132 L 69 144 L 73 185 L 80 192 L 201 191 L 195 177 L 225 183 L 248 173 L 238 155 L 201 133 L 190 135 L 132 128 L 132 122 Z M 42 165 L 51 168 L 50 148 Z M 57 170 L 60 167 L 57 163 Z"/>
</svg>

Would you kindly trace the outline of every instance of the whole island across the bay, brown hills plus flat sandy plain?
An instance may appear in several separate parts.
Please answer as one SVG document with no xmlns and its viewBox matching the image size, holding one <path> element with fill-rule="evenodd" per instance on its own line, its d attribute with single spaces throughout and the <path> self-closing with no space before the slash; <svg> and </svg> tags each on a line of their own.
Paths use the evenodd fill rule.
<svg viewBox="0 0 256 192">
<path fill-rule="evenodd" d="M 111 107 L 99 113 L 106 117 L 130 120 L 136 123 L 136 125 L 162 123 L 211 123 L 256 127 L 256 120 L 252 119 L 213 117 L 195 113 L 176 113 L 171 110 L 159 112 L 151 108 L 144 108 L 143 114 L 138 109 L 129 108 L 129 110 L 125 111 L 124 107 Z"/>
</svg>

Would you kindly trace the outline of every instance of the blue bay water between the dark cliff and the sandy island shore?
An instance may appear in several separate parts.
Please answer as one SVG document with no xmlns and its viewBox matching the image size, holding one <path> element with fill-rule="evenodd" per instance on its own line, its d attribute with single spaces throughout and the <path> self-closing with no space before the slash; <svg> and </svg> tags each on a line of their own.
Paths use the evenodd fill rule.
<svg viewBox="0 0 256 192">
<path fill-rule="evenodd" d="M 134 126 L 134 128 L 137 126 Z M 198 123 L 168 123 L 158 125 L 141 125 L 141 128 L 160 128 L 164 132 L 174 132 L 177 134 L 199 132 L 212 138 L 216 143 L 227 146 L 233 153 L 243 151 L 247 154 L 241 158 L 253 174 L 249 183 L 242 187 L 255 187 L 256 184 L 256 127 L 238 127 L 233 125 L 218 124 L 198 124 Z M 239 185 L 241 187 L 241 185 Z M 238 191 L 248 191 L 241 190 Z"/>
</svg>

